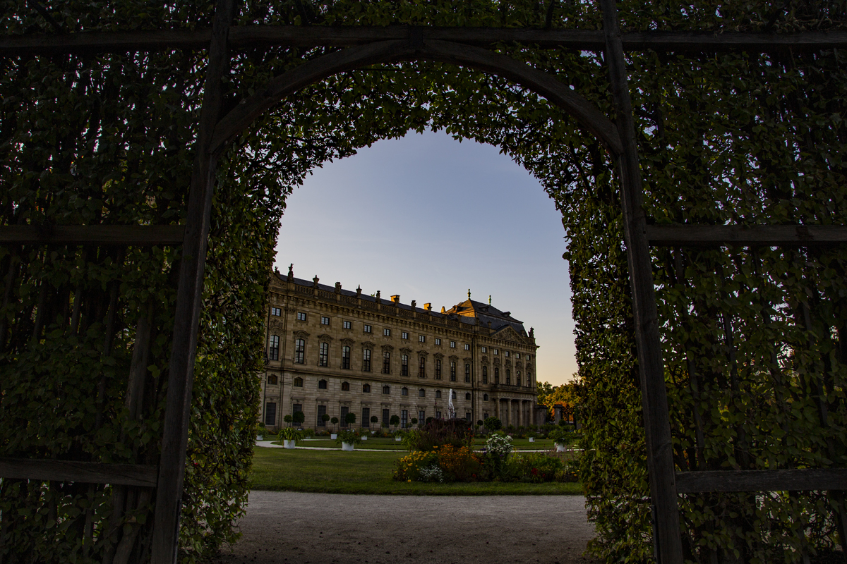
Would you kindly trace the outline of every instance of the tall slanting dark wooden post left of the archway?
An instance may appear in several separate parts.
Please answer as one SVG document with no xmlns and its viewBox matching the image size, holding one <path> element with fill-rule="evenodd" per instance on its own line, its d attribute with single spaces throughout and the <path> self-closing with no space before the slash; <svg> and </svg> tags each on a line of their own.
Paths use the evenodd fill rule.
<svg viewBox="0 0 847 564">
<path fill-rule="evenodd" d="M 168 398 L 153 521 L 152 564 L 173 564 L 180 537 L 185 450 L 188 446 L 188 424 L 191 416 L 191 387 L 217 165 L 217 156 L 209 153 L 209 147 L 222 107 L 221 81 L 224 73 L 230 68 L 227 37 L 233 18 L 233 4 L 233 0 L 218 0 L 215 7 L 206 83 L 203 87 L 203 105 L 185 218 L 180 285 L 174 315 L 173 350 L 168 365 Z"/>
</svg>

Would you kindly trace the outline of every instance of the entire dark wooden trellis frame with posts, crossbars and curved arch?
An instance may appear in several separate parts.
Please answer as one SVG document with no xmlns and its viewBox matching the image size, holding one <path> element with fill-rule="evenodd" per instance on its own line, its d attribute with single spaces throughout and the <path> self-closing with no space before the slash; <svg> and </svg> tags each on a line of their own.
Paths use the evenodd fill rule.
<svg viewBox="0 0 847 564">
<path fill-rule="evenodd" d="M 624 238 L 633 294 L 642 407 L 645 419 L 650 498 L 656 559 L 681 564 L 679 493 L 756 490 L 844 490 L 847 469 L 720 471 L 676 473 L 667 408 L 662 348 L 651 273 L 650 244 L 798 245 L 847 243 L 847 227 L 822 226 L 675 226 L 649 227 L 642 206 L 639 156 L 635 143 L 624 52 L 772 52 L 791 48 L 817 50 L 847 47 L 847 32 L 697 33 L 639 32 L 621 34 L 614 0 L 601 0 L 604 30 L 533 30 L 511 28 L 435 28 L 396 25 L 233 27 L 233 1 L 219 0 L 212 29 L 131 32 L 84 32 L 56 36 L 5 36 L 0 56 L 64 52 L 141 52 L 208 49 L 196 159 L 185 226 L 0 227 L 0 244 L 181 244 L 180 282 L 176 300 L 173 352 L 169 360 L 167 408 L 158 468 L 126 464 L 70 463 L 0 459 L 0 477 L 60 479 L 83 483 L 155 488 L 152 562 L 170 564 L 176 554 L 180 496 L 191 408 L 201 291 L 217 158 L 232 139 L 282 97 L 342 70 L 374 63 L 433 60 L 456 63 L 512 79 L 562 107 L 594 134 L 614 156 L 621 179 Z M 540 47 L 604 51 L 617 123 L 555 77 L 485 47 L 500 41 Z M 266 89 L 218 120 L 221 79 L 230 64 L 230 49 L 274 46 L 346 47 L 307 61 L 274 78 Z M 843 508 L 842 508 L 843 511 Z M 842 519 L 847 521 L 847 519 Z"/>
</svg>

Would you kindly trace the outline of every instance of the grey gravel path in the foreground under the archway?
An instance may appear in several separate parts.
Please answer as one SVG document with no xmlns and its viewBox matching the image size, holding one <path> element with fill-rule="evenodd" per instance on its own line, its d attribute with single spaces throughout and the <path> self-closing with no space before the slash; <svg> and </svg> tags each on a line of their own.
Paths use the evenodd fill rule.
<svg viewBox="0 0 847 564">
<path fill-rule="evenodd" d="M 348 496 L 253 491 L 213 564 L 586 564 L 582 496 Z"/>
</svg>

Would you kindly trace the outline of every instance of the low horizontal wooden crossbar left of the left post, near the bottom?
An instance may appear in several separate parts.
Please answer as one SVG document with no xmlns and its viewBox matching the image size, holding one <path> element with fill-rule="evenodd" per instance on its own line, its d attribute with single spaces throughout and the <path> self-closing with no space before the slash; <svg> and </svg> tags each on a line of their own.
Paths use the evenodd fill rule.
<svg viewBox="0 0 847 564">
<path fill-rule="evenodd" d="M 67 460 L 0 458 L 0 478 L 53 479 L 85 484 L 155 487 L 158 468 L 141 464 L 80 463 Z"/>
</svg>

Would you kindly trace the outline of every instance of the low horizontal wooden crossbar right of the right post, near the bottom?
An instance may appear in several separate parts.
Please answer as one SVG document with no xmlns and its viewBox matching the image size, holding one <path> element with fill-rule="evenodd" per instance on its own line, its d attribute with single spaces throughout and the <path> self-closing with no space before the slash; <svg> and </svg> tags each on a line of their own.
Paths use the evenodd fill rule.
<svg viewBox="0 0 847 564">
<path fill-rule="evenodd" d="M 677 492 L 847 490 L 847 468 L 678 472 Z"/>
</svg>

